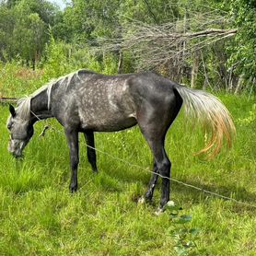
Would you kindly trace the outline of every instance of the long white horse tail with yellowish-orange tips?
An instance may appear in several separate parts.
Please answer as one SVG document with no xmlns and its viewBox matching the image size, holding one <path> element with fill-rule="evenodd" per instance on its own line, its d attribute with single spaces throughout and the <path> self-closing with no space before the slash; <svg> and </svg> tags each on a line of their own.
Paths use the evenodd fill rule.
<svg viewBox="0 0 256 256">
<path fill-rule="evenodd" d="M 197 154 L 211 150 L 210 157 L 214 157 L 219 153 L 224 137 L 227 146 L 230 147 L 233 135 L 236 134 L 236 128 L 229 111 L 223 103 L 203 90 L 183 86 L 176 86 L 175 88 L 183 99 L 185 113 L 188 117 L 192 121 L 202 124 L 205 132 L 210 134 L 209 141 Z"/>
</svg>

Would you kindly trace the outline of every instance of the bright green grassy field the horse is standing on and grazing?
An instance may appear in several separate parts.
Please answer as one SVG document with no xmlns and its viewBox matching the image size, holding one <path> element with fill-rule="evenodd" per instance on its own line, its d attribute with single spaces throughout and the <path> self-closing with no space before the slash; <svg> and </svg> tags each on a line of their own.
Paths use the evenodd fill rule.
<svg viewBox="0 0 256 256">
<path fill-rule="evenodd" d="M 208 161 L 192 153 L 204 145 L 204 134 L 192 130 L 180 113 L 169 129 L 167 151 L 172 178 L 256 205 L 255 115 L 253 101 L 218 95 L 231 111 L 237 138 L 230 151 Z M 255 108 L 255 107 L 254 107 Z M 7 106 L 0 106 L 0 255 L 178 255 L 172 236 L 177 224 L 169 213 L 156 216 L 153 204 L 137 204 L 150 173 L 98 153 L 99 174 L 87 163 L 80 137 L 79 190 L 68 192 L 69 160 L 64 134 L 50 130 L 38 137 L 39 122 L 16 161 L 6 150 Z M 255 111 L 255 109 L 254 109 Z M 254 124 L 253 124 L 254 120 Z M 135 165 L 152 166 L 152 157 L 137 127 L 115 134 L 96 134 L 96 146 Z M 200 229 L 190 255 L 256 255 L 255 208 L 218 199 L 171 184 L 171 199 L 192 215 L 187 227 Z M 194 253 L 194 254 L 193 254 Z"/>
</svg>

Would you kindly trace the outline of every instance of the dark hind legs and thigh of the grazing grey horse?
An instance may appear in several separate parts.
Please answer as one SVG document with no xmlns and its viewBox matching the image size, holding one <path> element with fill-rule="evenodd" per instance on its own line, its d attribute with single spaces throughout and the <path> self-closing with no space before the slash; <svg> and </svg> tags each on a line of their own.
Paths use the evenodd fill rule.
<svg viewBox="0 0 256 256">
<path fill-rule="evenodd" d="M 169 201 L 169 177 L 171 162 L 165 151 L 165 136 L 171 123 L 175 120 L 180 111 L 182 99 L 180 95 L 170 98 L 169 103 L 151 106 L 143 106 L 137 114 L 137 122 L 145 140 L 151 148 L 154 157 L 153 175 L 149 181 L 148 189 L 145 192 L 145 200 L 151 201 L 157 183 L 158 174 L 162 177 L 162 194 L 159 209 Z M 153 109 L 153 111 L 152 111 Z"/>
</svg>

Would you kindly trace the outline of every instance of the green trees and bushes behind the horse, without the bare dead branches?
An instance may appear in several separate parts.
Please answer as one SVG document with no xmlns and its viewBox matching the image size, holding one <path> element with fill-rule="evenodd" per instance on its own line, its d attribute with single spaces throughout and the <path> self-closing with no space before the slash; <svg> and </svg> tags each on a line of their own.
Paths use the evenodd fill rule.
<svg viewBox="0 0 256 256">
<path fill-rule="evenodd" d="M 151 26 L 176 22 L 177 26 L 180 24 L 180 32 L 184 29 L 191 31 L 209 29 L 212 26 L 215 29 L 238 28 L 235 37 L 204 47 L 201 52 L 192 53 L 183 64 L 177 65 L 170 59 L 164 66 L 157 66 L 156 70 L 171 76 L 175 81 L 190 84 L 193 64 L 198 62 L 198 67 L 195 66 L 198 74 L 195 76 L 193 86 L 201 88 L 204 85 L 213 89 L 238 92 L 239 77 L 241 77 L 241 88 L 253 91 L 256 76 L 255 2 L 208 1 L 207 5 L 204 2 L 203 0 L 170 2 L 73 0 L 64 10 L 60 10 L 47 0 L 2 1 L 0 60 L 9 62 L 18 59 L 23 65 L 33 69 L 47 64 L 46 76 L 49 78 L 81 67 L 105 74 L 115 74 L 117 65 L 121 61 L 119 51 L 122 49 L 117 52 L 105 51 L 95 54 L 94 47 L 100 49 L 101 38 L 122 41 L 126 36 L 123 28 L 129 26 L 129 23 L 142 22 L 145 26 Z M 198 22 L 194 21 L 195 13 L 202 19 L 200 28 Z M 212 17 L 217 14 L 216 19 L 221 14 L 224 19 L 215 22 L 215 25 L 211 22 L 205 24 L 204 16 L 207 16 L 207 13 Z M 50 33 L 49 27 L 51 27 Z M 192 41 L 192 45 L 197 42 L 197 40 Z M 54 43 L 56 45 L 53 47 Z M 60 53 L 59 61 L 53 48 Z M 121 71 L 134 72 L 139 68 L 138 64 L 143 62 L 143 56 L 138 57 L 133 51 L 122 51 Z M 60 63 L 59 67 L 58 63 Z M 106 66 L 109 64 L 110 66 Z M 50 70 L 51 65 L 56 72 Z"/>
</svg>

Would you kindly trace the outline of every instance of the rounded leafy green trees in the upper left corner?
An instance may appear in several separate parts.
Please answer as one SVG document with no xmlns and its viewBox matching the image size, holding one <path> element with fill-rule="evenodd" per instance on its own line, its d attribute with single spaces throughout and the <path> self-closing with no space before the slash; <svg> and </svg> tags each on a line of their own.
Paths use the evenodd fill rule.
<svg viewBox="0 0 256 256">
<path fill-rule="evenodd" d="M 45 0 L 0 3 L 0 58 L 10 61 L 19 56 L 24 64 L 35 68 L 48 40 L 47 27 L 53 22 L 54 12 L 54 6 Z"/>
</svg>

